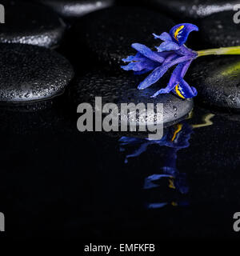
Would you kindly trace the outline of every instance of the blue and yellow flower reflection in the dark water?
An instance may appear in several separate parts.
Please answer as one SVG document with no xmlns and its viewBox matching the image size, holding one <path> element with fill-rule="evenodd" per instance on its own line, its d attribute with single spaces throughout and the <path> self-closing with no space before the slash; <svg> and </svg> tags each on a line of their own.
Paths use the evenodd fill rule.
<svg viewBox="0 0 240 256">
<path fill-rule="evenodd" d="M 148 146 L 158 145 L 170 147 L 170 153 L 167 154 L 164 166 L 162 166 L 161 174 L 152 174 L 145 179 L 143 188 L 150 190 L 158 188 L 160 185 L 157 183 L 162 179 L 167 178 L 170 189 L 174 189 L 181 194 L 187 194 L 189 188 L 186 183 L 186 174 L 182 174 L 176 167 L 178 150 L 190 146 L 189 139 L 193 133 L 192 127 L 186 122 L 182 122 L 176 126 L 172 126 L 166 130 L 166 133 L 160 140 L 149 140 L 148 138 L 131 138 L 122 137 L 119 139 L 120 151 L 125 151 L 126 147 L 134 146 L 136 149 L 132 154 L 127 154 L 125 162 L 128 162 L 129 158 L 136 158 L 142 153 L 146 152 Z M 160 208 L 166 206 L 168 202 L 151 203 L 148 204 L 148 208 Z M 186 202 L 171 202 L 173 206 L 186 205 Z"/>
</svg>

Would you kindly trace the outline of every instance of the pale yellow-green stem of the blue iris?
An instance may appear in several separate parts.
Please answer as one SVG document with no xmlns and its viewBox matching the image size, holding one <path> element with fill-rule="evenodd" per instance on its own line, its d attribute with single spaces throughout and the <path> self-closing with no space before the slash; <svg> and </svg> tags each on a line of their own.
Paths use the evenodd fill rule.
<svg viewBox="0 0 240 256">
<path fill-rule="evenodd" d="M 216 49 L 198 50 L 198 57 L 206 55 L 237 55 L 240 54 L 240 46 L 221 47 Z"/>
</svg>

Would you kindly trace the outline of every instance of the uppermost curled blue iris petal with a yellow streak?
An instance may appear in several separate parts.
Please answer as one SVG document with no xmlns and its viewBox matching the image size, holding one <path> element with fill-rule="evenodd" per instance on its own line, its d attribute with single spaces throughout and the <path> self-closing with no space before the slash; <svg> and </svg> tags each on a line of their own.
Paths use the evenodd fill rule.
<svg viewBox="0 0 240 256">
<path fill-rule="evenodd" d="M 170 36 L 174 42 L 177 42 L 179 46 L 182 46 L 192 31 L 198 31 L 198 26 L 190 23 L 182 23 L 174 26 L 170 30 Z"/>
</svg>

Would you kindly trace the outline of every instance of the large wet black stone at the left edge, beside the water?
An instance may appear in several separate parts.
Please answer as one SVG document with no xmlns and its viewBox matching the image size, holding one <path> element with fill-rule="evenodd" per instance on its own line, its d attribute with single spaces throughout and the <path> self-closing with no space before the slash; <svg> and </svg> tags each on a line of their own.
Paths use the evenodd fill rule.
<svg viewBox="0 0 240 256">
<path fill-rule="evenodd" d="M 62 94 L 74 71 L 60 54 L 44 47 L 0 44 L 0 102 L 42 101 Z"/>
</svg>

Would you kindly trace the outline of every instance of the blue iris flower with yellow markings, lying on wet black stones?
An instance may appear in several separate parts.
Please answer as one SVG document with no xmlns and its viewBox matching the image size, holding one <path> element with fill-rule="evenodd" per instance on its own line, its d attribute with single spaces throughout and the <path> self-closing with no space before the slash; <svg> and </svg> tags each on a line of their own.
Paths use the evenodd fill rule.
<svg viewBox="0 0 240 256">
<path fill-rule="evenodd" d="M 152 97 L 173 92 L 180 98 L 193 98 L 198 92 L 193 86 L 189 86 L 183 78 L 190 63 L 198 57 L 196 51 L 184 45 L 190 32 L 194 30 L 198 31 L 198 26 L 182 23 L 174 26 L 170 33 L 154 34 L 154 38 L 163 41 L 160 46 L 156 46 L 158 51 L 150 50 L 149 47 L 140 43 L 132 44 L 138 53 L 123 58 L 124 62 L 129 63 L 126 66 L 121 66 L 122 69 L 134 70 L 134 74 L 145 74 L 152 71 L 138 86 L 139 90 L 144 90 L 158 82 L 170 67 L 176 66 L 166 88 L 158 90 Z"/>
</svg>

